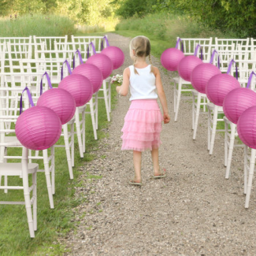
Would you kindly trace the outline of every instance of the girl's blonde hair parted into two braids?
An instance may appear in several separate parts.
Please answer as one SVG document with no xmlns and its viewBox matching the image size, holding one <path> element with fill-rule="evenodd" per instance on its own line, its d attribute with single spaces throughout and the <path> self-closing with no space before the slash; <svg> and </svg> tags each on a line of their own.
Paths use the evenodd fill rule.
<svg viewBox="0 0 256 256">
<path fill-rule="evenodd" d="M 133 38 L 130 42 L 130 50 L 135 50 L 135 58 L 133 62 L 134 72 L 139 75 L 138 71 L 135 69 L 136 57 L 147 57 L 149 58 L 151 69 L 150 72 L 154 72 L 152 65 L 151 55 L 150 55 L 150 39 L 144 35 L 139 35 Z"/>
</svg>

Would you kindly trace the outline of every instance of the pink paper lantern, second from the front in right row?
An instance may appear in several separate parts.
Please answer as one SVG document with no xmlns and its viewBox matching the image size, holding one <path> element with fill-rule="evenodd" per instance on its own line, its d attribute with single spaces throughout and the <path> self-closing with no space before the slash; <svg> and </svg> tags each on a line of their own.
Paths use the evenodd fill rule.
<svg viewBox="0 0 256 256">
<path fill-rule="evenodd" d="M 252 106 L 256 106 L 256 93 L 249 88 L 238 88 L 224 98 L 223 111 L 229 121 L 237 124 L 240 115 Z"/>
</svg>

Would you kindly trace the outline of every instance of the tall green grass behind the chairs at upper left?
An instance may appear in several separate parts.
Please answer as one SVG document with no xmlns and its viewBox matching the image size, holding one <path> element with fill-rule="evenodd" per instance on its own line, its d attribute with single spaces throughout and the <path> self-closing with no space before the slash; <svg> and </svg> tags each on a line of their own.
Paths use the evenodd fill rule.
<svg viewBox="0 0 256 256">
<path fill-rule="evenodd" d="M 1 36 L 61 36 L 73 35 L 74 23 L 68 17 L 42 14 L 23 15 L 20 17 L 0 19 Z"/>
</svg>

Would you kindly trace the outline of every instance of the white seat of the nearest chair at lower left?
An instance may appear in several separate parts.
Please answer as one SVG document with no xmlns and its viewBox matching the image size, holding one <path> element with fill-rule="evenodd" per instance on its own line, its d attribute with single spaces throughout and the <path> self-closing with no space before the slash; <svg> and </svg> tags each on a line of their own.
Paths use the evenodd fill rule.
<svg viewBox="0 0 256 256">
<path fill-rule="evenodd" d="M 35 173 L 38 169 L 38 164 L 28 164 L 28 173 Z M 0 175 L 2 176 L 20 176 L 21 173 L 21 163 L 0 163 Z"/>
</svg>

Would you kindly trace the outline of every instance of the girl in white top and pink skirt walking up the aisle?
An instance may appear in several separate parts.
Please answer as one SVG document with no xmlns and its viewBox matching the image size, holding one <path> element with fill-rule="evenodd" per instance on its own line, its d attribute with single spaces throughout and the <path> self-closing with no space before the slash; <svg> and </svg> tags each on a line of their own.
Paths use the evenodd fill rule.
<svg viewBox="0 0 256 256">
<path fill-rule="evenodd" d="M 166 176 L 165 169 L 159 168 L 158 148 L 161 144 L 161 123 L 164 121 L 164 124 L 168 124 L 170 117 L 160 72 L 152 65 L 150 40 L 143 35 L 132 39 L 130 56 L 134 64 L 124 69 L 123 83 L 117 86 L 119 95 L 128 95 L 129 88 L 132 95 L 131 106 L 124 117 L 121 150 L 133 150 L 135 177 L 130 180 L 129 184 L 141 185 L 141 158 L 144 150 L 151 151 L 154 168 L 152 178 L 159 179 Z M 147 57 L 149 57 L 150 65 L 147 64 Z M 163 115 L 158 106 L 158 97 Z"/>
</svg>

